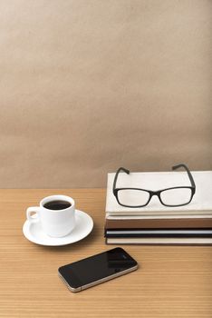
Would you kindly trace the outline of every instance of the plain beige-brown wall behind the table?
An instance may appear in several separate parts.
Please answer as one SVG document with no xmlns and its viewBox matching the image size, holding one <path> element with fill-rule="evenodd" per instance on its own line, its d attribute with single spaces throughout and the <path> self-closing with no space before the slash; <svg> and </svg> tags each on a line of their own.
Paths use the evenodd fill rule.
<svg viewBox="0 0 212 318">
<path fill-rule="evenodd" d="M 1 0 L 0 187 L 212 169 L 206 0 Z"/>
</svg>

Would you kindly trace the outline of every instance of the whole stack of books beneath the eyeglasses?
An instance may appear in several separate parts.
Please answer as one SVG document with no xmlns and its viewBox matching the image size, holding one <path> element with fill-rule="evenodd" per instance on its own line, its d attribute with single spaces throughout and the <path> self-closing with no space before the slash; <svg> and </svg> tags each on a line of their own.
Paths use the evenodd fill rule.
<svg viewBox="0 0 212 318">
<path fill-rule="evenodd" d="M 191 172 L 196 193 L 183 206 L 168 207 L 153 196 L 148 205 L 129 208 L 112 192 L 115 174 L 108 174 L 105 238 L 109 244 L 212 244 L 212 171 Z M 157 191 L 189 186 L 184 172 L 120 173 L 117 187 Z"/>
</svg>

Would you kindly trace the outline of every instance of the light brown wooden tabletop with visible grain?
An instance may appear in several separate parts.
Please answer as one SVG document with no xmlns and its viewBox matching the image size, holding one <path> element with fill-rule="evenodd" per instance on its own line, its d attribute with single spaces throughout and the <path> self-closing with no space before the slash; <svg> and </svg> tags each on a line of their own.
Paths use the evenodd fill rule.
<svg viewBox="0 0 212 318">
<path fill-rule="evenodd" d="M 26 207 L 50 194 L 72 196 L 92 234 L 63 247 L 27 241 Z M 0 200 L 0 317 L 212 317 L 212 247 L 126 245 L 138 271 L 71 293 L 58 267 L 114 247 L 103 238 L 105 190 L 0 190 Z"/>
</svg>

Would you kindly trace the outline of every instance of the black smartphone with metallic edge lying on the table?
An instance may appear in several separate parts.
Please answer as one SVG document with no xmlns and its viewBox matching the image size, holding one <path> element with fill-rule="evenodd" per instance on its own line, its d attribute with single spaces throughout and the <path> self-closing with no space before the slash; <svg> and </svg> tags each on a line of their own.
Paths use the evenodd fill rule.
<svg viewBox="0 0 212 318">
<path fill-rule="evenodd" d="M 138 263 L 120 247 L 98 253 L 58 269 L 60 278 L 73 293 L 137 270 Z"/>
</svg>

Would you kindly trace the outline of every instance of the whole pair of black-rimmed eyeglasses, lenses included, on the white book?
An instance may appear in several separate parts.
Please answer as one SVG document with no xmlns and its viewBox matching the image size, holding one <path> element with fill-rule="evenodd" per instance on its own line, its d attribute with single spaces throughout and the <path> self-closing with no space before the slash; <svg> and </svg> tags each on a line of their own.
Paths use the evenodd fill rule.
<svg viewBox="0 0 212 318">
<path fill-rule="evenodd" d="M 189 204 L 195 194 L 196 185 L 186 164 L 175 165 L 172 167 L 172 170 L 176 170 L 180 167 L 183 167 L 186 170 L 191 185 L 174 186 L 158 191 L 129 187 L 117 188 L 116 184 L 120 171 L 130 174 L 129 170 L 120 167 L 117 170 L 113 181 L 113 194 L 115 195 L 118 204 L 132 208 L 146 206 L 149 204 L 153 195 L 157 195 L 159 202 L 165 206 L 181 206 Z"/>
</svg>

